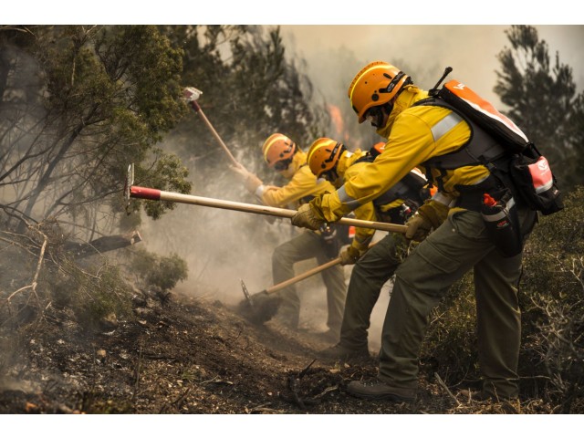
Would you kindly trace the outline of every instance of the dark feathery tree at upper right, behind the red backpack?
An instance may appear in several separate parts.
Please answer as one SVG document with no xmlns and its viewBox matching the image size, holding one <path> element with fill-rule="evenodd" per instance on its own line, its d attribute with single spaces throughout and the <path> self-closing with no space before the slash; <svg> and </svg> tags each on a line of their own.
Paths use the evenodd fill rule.
<svg viewBox="0 0 584 438">
<path fill-rule="evenodd" d="M 576 94 L 573 71 L 559 54 L 550 59 L 547 43 L 533 26 L 511 26 L 506 31 L 511 47 L 498 59 L 495 92 L 509 110 L 507 115 L 547 156 L 568 191 L 581 181 L 584 93 Z"/>
</svg>

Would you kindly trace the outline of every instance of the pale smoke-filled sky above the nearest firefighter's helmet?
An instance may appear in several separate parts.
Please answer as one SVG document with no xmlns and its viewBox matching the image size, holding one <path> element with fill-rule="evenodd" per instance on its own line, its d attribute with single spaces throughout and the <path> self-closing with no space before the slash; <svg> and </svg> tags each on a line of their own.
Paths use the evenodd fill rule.
<svg viewBox="0 0 584 438">
<path fill-rule="evenodd" d="M 584 20 L 582 20 L 584 23 Z M 383 60 L 406 70 L 398 61 L 404 60 L 414 81 L 421 74 L 432 78 L 420 83 L 427 89 L 440 78 L 443 68 L 454 68 L 450 78 L 458 78 L 478 91 L 485 99 L 497 101 L 492 89 L 495 70 L 500 68 L 496 55 L 509 47 L 502 25 L 373 25 L 373 26 L 282 26 L 282 36 L 288 51 L 307 60 L 308 75 L 325 92 L 332 78 L 344 77 L 345 87 L 338 92 L 346 96 L 350 80 L 359 71 L 344 66 L 345 55 L 352 54 L 365 66 L 370 61 Z M 558 51 L 561 63 L 573 68 L 579 91 L 584 89 L 584 26 L 535 26 L 544 39 L 552 58 Z M 339 52 L 340 51 L 340 52 Z M 341 52 L 347 52 L 342 54 Z M 435 68 L 434 71 L 426 71 Z M 346 71 L 349 69 L 349 71 Z M 418 69 L 423 70 L 418 71 Z M 354 71 L 353 71 L 354 70 Z M 472 85 L 471 85 L 472 84 Z"/>
</svg>

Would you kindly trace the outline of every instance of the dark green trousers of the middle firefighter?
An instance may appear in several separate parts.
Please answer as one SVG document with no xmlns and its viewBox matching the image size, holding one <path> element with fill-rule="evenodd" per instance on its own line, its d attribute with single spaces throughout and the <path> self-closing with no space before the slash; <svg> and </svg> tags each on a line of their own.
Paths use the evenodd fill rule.
<svg viewBox="0 0 584 438">
<path fill-rule="evenodd" d="M 381 287 L 400 266 L 405 239 L 388 234 L 371 247 L 353 266 L 350 275 L 340 345 L 346 349 L 368 349 L 367 330 Z"/>
</svg>

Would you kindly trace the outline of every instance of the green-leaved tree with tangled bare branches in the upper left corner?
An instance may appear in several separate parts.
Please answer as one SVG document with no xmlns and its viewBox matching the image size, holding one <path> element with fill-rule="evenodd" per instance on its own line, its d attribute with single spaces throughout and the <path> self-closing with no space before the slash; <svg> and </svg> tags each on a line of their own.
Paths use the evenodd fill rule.
<svg viewBox="0 0 584 438">
<path fill-rule="evenodd" d="M 102 219 L 120 213 L 128 164 L 135 162 L 145 176 L 160 170 L 148 168 L 152 148 L 186 111 L 179 85 L 183 52 L 155 26 L 33 26 L 26 32 L 6 37 L 4 46 L 22 54 L 5 70 L 0 105 L 7 151 L 0 183 L 12 198 L 10 208 L 23 218 L 50 215 L 90 229 L 112 227 Z M 38 99 L 5 99 L 28 85 L 15 78 L 26 66 L 40 78 Z M 170 185 L 188 192 L 185 173 L 174 168 L 181 173 L 172 178 L 183 181 Z"/>
</svg>

